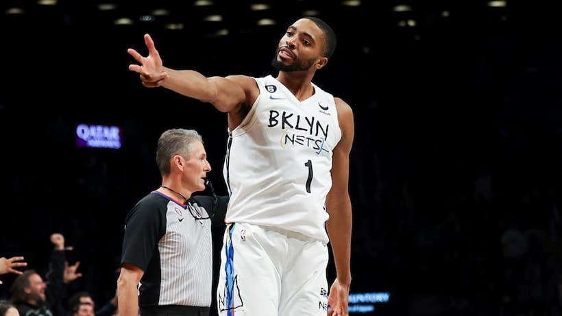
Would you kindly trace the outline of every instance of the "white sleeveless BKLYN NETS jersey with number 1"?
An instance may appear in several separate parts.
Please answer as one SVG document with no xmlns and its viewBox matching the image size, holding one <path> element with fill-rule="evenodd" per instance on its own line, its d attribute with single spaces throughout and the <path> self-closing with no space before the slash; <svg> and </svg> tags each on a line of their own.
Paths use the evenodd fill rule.
<svg viewBox="0 0 562 316">
<path fill-rule="evenodd" d="M 230 193 L 227 223 L 252 223 L 328 242 L 326 195 L 332 150 L 341 138 L 334 97 L 313 84 L 299 101 L 271 75 L 231 133 L 223 168 Z"/>
</svg>

